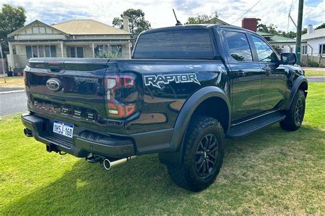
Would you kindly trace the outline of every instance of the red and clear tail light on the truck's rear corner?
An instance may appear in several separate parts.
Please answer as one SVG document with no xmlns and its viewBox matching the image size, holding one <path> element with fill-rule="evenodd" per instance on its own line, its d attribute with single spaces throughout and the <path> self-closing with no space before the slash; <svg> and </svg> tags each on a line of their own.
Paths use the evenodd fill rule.
<svg viewBox="0 0 325 216">
<path fill-rule="evenodd" d="M 105 78 L 106 110 L 109 118 L 127 118 L 136 112 L 136 76 L 112 74 Z"/>
</svg>

